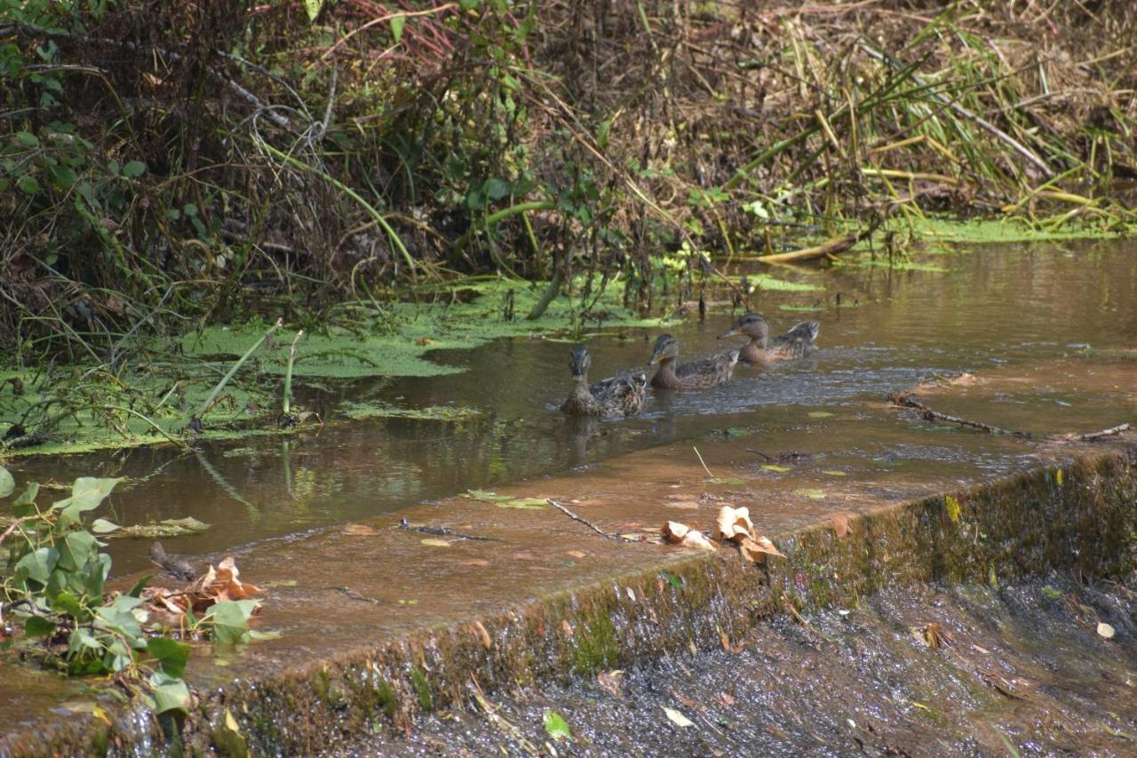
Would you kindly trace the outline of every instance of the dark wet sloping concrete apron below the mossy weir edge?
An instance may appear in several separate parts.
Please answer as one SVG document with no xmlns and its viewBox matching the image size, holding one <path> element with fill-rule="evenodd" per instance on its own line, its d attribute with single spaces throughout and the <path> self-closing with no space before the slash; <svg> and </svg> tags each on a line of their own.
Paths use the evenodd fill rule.
<svg viewBox="0 0 1137 758">
<path fill-rule="evenodd" d="M 324 755 L 1134 755 L 1135 633 L 1137 594 L 1070 575 L 890 590 L 777 616 L 713 652 L 471 691 L 466 709 L 409 739 L 383 732 Z M 570 741 L 546 731 L 549 712 Z"/>
</svg>

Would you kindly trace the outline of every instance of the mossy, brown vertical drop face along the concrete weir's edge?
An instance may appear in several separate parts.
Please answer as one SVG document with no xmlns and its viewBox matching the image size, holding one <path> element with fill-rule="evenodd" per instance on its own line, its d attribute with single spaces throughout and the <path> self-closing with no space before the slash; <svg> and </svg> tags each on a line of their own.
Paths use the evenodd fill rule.
<svg viewBox="0 0 1137 758">
<path fill-rule="evenodd" d="M 839 530 L 847 533 L 839 536 Z M 1084 453 L 954 493 L 836 514 L 774 538 L 765 567 L 681 554 L 603 583 L 198 692 L 179 726 L 146 712 L 55 719 L 0 736 L 0 755 L 312 753 L 492 692 L 723 644 L 787 604 L 856 602 L 889 585 L 1003 584 L 1074 568 L 1119 576 L 1137 559 L 1137 447 Z M 235 727 L 235 728 L 234 728 Z"/>
</svg>

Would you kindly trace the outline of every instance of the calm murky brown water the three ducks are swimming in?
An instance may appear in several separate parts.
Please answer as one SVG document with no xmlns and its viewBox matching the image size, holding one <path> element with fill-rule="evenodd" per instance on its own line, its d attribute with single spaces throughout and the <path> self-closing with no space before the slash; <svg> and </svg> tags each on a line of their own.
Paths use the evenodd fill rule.
<svg viewBox="0 0 1137 758">
<path fill-rule="evenodd" d="M 774 275 L 818 289 L 762 291 L 757 307 L 775 329 L 816 319 L 822 349 L 765 372 L 740 368 L 735 381 L 712 390 L 657 395 L 638 419 L 563 418 L 556 406 L 568 384 L 567 343 L 513 339 L 438 357 L 464 366 L 460 374 L 357 384 L 315 398 L 410 407 L 453 403 L 478 411 L 468 419 L 360 421 L 288 439 L 202 445 L 190 454 L 135 448 L 19 460 L 9 468 L 18 479 L 133 477 L 116 491 L 108 517 L 119 524 L 197 517 L 213 529 L 179 539 L 175 547 L 201 554 L 714 437 L 728 428 L 756 434 L 764 450 L 783 450 L 787 435 L 799 442 L 811 412 L 860 413 L 889 392 L 960 371 L 1005 381 L 994 394 L 965 393 L 954 401 L 954 413 L 1011 428 L 1096 429 L 1131 420 L 1137 407 L 1137 382 L 1126 381 L 1137 347 L 1135 252 L 1131 241 L 1005 246 L 920 258 L 924 267 L 943 271 L 775 270 Z M 814 304 L 820 310 L 786 310 Z M 740 344 L 715 339 L 733 315 L 713 308 L 706 322 L 690 319 L 670 331 L 683 357 L 698 357 Z M 594 378 L 641 365 L 655 337 L 644 330 L 605 335 L 589 340 Z M 1102 379 L 1090 390 L 1052 386 L 1062 371 Z M 872 429 L 853 423 L 831 431 L 855 451 L 861 435 L 865 443 L 880 442 L 870 439 Z M 879 444 L 871 447 L 893 463 L 999 470 L 1009 461 L 943 446 L 935 435 L 897 440 L 885 452 Z M 148 546 L 115 542 L 116 574 L 144 567 Z"/>
</svg>

